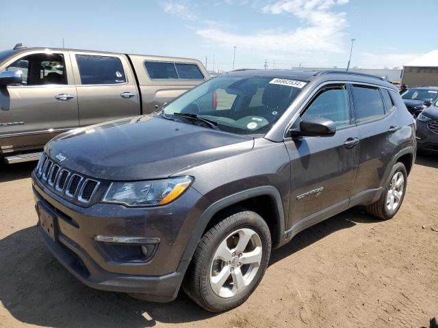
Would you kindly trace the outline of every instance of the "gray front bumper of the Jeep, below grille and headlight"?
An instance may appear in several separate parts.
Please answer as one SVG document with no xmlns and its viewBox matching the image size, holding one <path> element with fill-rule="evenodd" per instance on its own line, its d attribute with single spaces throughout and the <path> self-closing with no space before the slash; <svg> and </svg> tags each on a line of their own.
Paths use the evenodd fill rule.
<svg viewBox="0 0 438 328">
<path fill-rule="evenodd" d="M 142 294 L 150 301 L 172 301 L 190 262 L 183 253 L 208 203 L 190 188 L 179 199 L 156 208 L 94 204 L 81 208 L 57 196 L 32 175 L 36 208 L 54 217 L 56 236 L 38 224 L 57 260 L 83 284 L 101 290 Z M 94 236 L 159 238 L 148 262 L 118 262 L 101 251 Z"/>
</svg>

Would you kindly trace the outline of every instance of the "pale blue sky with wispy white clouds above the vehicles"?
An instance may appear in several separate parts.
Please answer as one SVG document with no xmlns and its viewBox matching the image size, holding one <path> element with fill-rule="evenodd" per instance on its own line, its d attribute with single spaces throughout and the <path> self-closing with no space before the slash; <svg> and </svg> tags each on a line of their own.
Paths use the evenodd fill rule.
<svg viewBox="0 0 438 328">
<path fill-rule="evenodd" d="M 16 43 L 192 57 L 207 69 L 395 68 L 438 49 L 438 0 L 0 0 Z M 419 14 L 418 14 L 419 13 Z M 428 14 L 430 17 L 428 18 Z M 213 66 L 214 63 L 214 66 Z"/>
</svg>

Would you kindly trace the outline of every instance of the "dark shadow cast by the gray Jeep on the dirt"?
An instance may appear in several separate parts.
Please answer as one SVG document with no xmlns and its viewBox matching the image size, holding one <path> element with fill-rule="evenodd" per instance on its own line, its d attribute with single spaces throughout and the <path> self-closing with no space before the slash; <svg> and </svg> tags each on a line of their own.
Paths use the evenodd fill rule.
<svg viewBox="0 0 438 328">
<path fill-rule="evenodd" d="M 273 264 L 338 230 L 375 219 L 360 209 L 348 210 L 300 232 L 273 251 Z M 45 327 L 153 327 L 159 323 L 205 320 L 211 314 L 183 292 L 171 303 L 149 303 L 116 292 L 88 288 L 53 258 L 36 227 L 0 241 L 0 301 L 14 318 Z"/>
</svg>

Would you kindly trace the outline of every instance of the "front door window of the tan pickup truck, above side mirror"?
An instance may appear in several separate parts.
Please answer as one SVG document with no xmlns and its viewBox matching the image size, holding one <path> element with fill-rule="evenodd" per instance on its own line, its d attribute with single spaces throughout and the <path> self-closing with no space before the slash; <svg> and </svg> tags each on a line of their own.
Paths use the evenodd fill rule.
<svg viewBox="0 0 438 328">
<path fill-rule="evenodd" d="M 6 70 L 21 72 L 23 85 L 67 84 L 64 56 L 36 53 L 18 59 Z"/>
</svg>

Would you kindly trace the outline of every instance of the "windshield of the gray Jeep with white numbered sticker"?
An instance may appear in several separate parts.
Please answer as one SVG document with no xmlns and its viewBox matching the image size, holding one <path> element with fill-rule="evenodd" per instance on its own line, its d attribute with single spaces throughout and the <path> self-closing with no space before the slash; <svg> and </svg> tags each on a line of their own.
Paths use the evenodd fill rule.
<svg viewBox="0 0 438 328">
<path fill-rule="evenodd" d="M 164 113 L 190 113 L 216 122 L 222 131 L 265 135 L 305 85 L 276 77 L 216 77 L 171 102 Z"/>
</svg>

